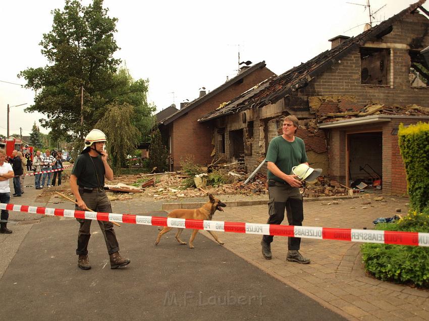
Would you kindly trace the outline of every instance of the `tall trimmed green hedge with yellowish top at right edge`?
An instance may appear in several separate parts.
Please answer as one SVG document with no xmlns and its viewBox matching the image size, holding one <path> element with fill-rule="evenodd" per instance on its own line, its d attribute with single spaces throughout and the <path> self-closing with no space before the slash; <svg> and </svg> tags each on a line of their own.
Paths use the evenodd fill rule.
<svg viewBox="0 0 429 321">
<path fill-rule="evenodd" d="M 411 209 L 429 206 L 429 123 L 399 126 L 399 148 L 407 173 Z"/>
</svg>

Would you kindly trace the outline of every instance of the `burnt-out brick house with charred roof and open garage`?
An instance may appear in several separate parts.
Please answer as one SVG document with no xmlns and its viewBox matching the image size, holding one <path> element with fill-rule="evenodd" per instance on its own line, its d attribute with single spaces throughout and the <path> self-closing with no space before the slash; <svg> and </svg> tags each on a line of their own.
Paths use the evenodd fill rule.
<svg viewBox="0 0 429 321">
<path fill-rule="evenodd" d="M 200 117 L 211 125 L 215 158 L 244 154 L 251 172 L 281 134 L 282 118 L 293 114 L 310 165 L 323 168 L 331 181 L 363 181 L 382 185 L 386 194 L 406 194 L 398 125 L 429 120 L 424 2 L 355 37 L 330 39 L 330 50 Z"/>
</svg>

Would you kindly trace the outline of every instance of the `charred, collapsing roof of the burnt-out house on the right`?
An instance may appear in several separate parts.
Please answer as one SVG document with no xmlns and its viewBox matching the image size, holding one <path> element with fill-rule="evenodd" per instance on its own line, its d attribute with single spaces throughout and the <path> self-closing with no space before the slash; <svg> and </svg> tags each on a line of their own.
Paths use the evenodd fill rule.
<svg viewBox="0 0 429 321">
<path fill-rule="evenodd" d="M 198 119 L 198 121 L 204 122 L 225 115 L 235 114 L 246 109 L 261 108 L 265 105 L 276 103 L 292 91 L 307 86 L 315 76 L 337 63 L 339 59 L 347 55 L 351 50 L 360 47 L 371 38 L 381 38 L 390 33 L 392 31 L 392 24 L 402 19 L 405 15 L 418 8 L 425 11 L 424 8 L 421 7 L 425 1 L 426 0 L 419 0 L 379 25 L 362 32 L 356 37 L 345 40 L 331 50 L 318 54 L 307 62 L 301 63 L 301 65 L 288 70 L 280 76 L 264 80 L 259 85 L 235 97 L 222 108 L 218 108 L 204 115 Z"/>
</svg>

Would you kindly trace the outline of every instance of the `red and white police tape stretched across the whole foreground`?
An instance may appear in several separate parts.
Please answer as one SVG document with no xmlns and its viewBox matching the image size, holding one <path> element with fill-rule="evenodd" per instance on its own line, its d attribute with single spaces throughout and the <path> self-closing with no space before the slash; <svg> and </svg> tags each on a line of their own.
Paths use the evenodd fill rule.
<svg viewBox="0 0 429 321">
<path fill-rule="evenodd" d="M 222 222 L 187 220 L 156 216 L 131 214 L 86 212 L 76 210 L 53 209 L 26 205 L 0 203 L 0 209 L 17 212 L 37 213 L 49 216 L 64 216 L 118 223 L 131 223 L 152 226 L 170 226 L 220 232 L 247 234 L 265 234 L 277 236 L 292 236 L 303 238 L 329 239 L 364 243 L 385 243 L 414 246 L 429 246 L 429 233 L 358 230 L 350 228 L 328 228 L 309 226 L 272 225 L 244 222 Z"/>
</svg>

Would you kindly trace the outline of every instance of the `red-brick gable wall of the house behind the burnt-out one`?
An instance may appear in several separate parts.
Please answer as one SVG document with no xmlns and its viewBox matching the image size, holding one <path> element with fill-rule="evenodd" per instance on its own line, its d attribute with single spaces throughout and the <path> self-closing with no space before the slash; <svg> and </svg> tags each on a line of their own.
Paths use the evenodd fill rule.
<svg viewBox="0 0 429 321">
<path fill-rule="evenodd" d="M 174 130 L 172 130 L 174 170 L 180 168 L 181 159 L 184 159 L 187 155 L 193 155 L 195 161 L 201 165 L 211 163 L 210 154 L 214 148 L 211 144 L 211 124 L 210 122 L 199 123 L 197 120 L 208 112 L 218 108 L 220 104 L 230 101 L 232 98 L 273 75 L 273 72 L 265 67 L 257 69 L 244 77 L 242 82 L 236 82 L 191 109 L 187 114 L 174 120 Z M 227 151 L 229 150 L 228 146 L 226 149 Z"/>
</svg>

